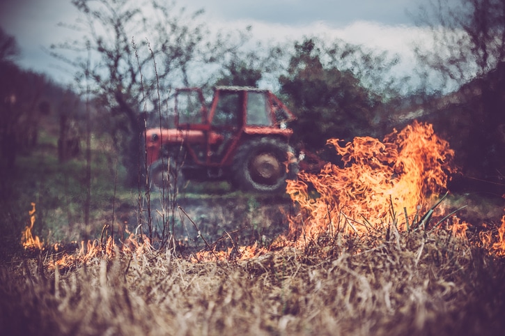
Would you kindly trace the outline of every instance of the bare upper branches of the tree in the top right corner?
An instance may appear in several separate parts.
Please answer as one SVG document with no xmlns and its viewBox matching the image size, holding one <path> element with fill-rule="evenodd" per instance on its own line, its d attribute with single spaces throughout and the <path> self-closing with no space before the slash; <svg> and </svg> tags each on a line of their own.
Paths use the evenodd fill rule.
<svg viewBox="0 0 505 336">
<path fill-rule="evenodd" d="M 503 0 L 430 0 L 416 20 L 432 38 L 429 49 L 415 49 L 417 56 L 437 70 L 444 87 L 483 76 L 505 59 Z"/>
</svg>

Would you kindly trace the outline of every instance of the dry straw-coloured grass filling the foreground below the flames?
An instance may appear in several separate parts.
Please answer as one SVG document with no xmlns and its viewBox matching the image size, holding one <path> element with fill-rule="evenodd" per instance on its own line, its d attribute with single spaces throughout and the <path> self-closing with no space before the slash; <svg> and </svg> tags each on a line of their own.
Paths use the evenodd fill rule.
<svg viewBox="0 0 505 336">
<path fill-rule="evenodd" d="M 450 231 L 327 236 L 247 260 L 117 252 L 0 268 L 1 335 L 499 335 L 505 265 Z M 60 274 L 61 273 L 61 274 Z"/>
</svg>

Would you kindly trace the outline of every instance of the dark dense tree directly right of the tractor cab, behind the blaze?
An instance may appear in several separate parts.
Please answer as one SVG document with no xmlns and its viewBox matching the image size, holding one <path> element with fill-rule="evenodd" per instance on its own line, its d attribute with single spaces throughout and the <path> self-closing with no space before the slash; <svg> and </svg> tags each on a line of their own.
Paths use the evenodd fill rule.
<svg viewBox="0 0 505 336">
<path fill-rule="evenodd" d="M 329 138 L 380 135 L 380 107 L 395 96 L 387 74 L 396 63 L 342 41 L 295 43 L 287 74 L 279 78 L 298 117 L 294 140 L 317 151 Z"/>
</svg>

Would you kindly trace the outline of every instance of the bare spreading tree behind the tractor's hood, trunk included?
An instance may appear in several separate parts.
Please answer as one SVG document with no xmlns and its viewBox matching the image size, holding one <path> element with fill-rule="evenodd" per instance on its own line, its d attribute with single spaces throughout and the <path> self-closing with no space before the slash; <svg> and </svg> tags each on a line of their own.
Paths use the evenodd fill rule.
<svg viewBox="0 0 505 336">
<path fill-rule="evenodd" d="M 208 83 L 205 65 L 219 63 L 237 46 L 229 46 L 228 35 L 211 36 L 199 20 L 203 11 L 188 14 L 175 2 L 72 0 L 72 4 L 84 22 L 69 26 L 78 37 L 52 45 L 52 54 L 75 67 L 81 91 L 109 112 L 111 136 L 134 183 L 145 114 L 165 111 L 174 86 Z"/>
</svg>

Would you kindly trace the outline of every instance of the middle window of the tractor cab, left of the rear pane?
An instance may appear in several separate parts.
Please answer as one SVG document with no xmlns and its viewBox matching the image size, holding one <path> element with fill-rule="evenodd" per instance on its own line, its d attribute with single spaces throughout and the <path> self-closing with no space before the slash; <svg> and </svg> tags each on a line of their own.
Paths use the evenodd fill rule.
<svg viewBox="0 0 505 336">
<path fill-rule="evenodd" d="M 240 104 L 240 93 L 219 92 L 219 100 L 212 119 L 212 125 L 225 126 L 225 128 L 235 128 L 239 123 L 239 116 L 242 115 Z"/>
</svg>

